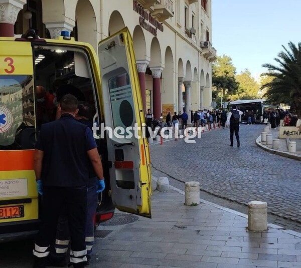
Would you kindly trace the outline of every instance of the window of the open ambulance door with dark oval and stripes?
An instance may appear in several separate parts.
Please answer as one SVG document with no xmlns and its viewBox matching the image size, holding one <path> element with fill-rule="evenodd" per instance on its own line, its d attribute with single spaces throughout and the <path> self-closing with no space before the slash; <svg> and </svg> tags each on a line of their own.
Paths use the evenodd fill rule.
<svg viewBox="0 0 301 268">
<path fill-rule="evenodd" d="M 126 72 L 108 80 L 114 128 L 133 126 L 133 96 L 129 76 Z"/>
</svg>

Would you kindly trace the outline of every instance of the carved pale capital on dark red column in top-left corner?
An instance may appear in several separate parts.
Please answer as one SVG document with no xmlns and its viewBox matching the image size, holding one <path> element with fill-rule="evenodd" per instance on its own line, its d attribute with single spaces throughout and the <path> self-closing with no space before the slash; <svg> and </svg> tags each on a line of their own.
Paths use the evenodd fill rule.
<svg viewBox="0 0 301 268">
<path fill-rule="evenodd" d="M 0 0 L 0 37 L 14 37 L 14 25 L 26 0 Z"/>
</svg>

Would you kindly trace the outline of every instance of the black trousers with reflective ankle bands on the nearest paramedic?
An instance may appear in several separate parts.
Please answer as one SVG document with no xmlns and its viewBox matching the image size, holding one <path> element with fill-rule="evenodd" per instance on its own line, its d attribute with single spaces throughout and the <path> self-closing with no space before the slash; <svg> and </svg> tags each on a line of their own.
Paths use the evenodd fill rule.
<svg viewBox="0 0 301 268">
<path fill-rule="evenodd" d="M 45 259 L 54 244 L 58 218 L 65 208 L 71 238 L 71 263 L 86 261 L 85 224 L 87 186 L 76 188 L 44 186 L 42 196 L 42 223 L 35 241 L 34 255 Z"/>
</svg>

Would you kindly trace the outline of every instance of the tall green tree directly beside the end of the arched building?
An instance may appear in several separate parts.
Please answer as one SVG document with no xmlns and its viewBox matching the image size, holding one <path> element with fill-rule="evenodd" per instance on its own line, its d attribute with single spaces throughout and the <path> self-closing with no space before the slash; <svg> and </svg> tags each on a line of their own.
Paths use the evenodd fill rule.
<svg viewBox="0 0 301 268">
<path fill-rule="evenodd" d="M 212 86 L 213 97 L 219 95 L 226 99 L 226 94 L 233 94 L 238 88 L 235 79 L 236 68 L 232 64 L 232 59 L 229 56 L 218 56 L 217 61 L 212 66 Z"/>
</svg>

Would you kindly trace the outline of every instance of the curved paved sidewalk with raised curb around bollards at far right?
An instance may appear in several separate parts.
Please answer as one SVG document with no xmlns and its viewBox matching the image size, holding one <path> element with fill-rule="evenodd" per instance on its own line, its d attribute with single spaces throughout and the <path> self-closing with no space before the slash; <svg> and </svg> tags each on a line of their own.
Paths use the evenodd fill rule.
<svg viewBox="0 0 301 268">
<path fill-rule="evenodd" d="M 265 125 L 262 125 L 262 131 Z M 279 128 L 272 128 L 269 130 L 269 133 L 272 134 L 273 139 L 279 139 Z M 296 152 L 290 153 L 287 149 L 288 141 L 296 142 Z M 278 154 L 284 157 L 296 159 L 301 161 L 301 139 L 279 139 L 279 149 L 273 149 L 272 145 L 266 145 L 265 142 L 261 142 L 261 135 L 256 139 L 256 144 L 261 147 L 263 150 L 269 151 L 274 154 Z"/>
</svg>

